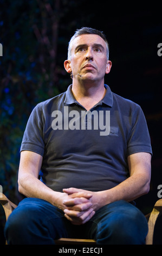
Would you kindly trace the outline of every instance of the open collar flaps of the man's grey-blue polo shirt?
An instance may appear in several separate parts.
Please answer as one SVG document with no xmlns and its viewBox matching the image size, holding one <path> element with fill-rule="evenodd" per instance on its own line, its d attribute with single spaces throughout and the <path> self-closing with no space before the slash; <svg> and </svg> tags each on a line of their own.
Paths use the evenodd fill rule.
<svg viewBox="0 0 162 256">
<path fill-rule="evenodd" d="M 105 84 L 105 88 L 106 88 L 106 94 L 100 102 L 108 105 L 109 107 L 112 107 L 113 106 L 112 91 L 109 88 L 109 86 L 107 86 L 107 84 Z M 70 84 L 70 86 L 68 87 L 68 89 L 66 91 L 66 97 L 65 97 L 64 103 L 67 103 L 68 105 L 70 105 L 75 102 L 76 102 L 76 99 L 72 93 L 72 84 Z"/>
</svg>

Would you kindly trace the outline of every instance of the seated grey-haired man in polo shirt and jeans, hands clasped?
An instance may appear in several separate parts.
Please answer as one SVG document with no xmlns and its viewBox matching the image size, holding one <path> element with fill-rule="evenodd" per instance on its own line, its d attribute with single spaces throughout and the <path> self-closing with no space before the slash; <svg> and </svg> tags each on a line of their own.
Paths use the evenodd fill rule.
<svg viewBox="0 0 162 256">
<path fill-rule="evenodd" d="M 5 227 L 9 244 L 145 243 L 147 222 L 133 200 L 149 191 L 150 136 L 140 106 L 104 85 L 108 55 L 103 33 L 76 31 L 64 62 L 72 85 L 31 113 L 18 173 L 27 198 Z"/>
</svg>

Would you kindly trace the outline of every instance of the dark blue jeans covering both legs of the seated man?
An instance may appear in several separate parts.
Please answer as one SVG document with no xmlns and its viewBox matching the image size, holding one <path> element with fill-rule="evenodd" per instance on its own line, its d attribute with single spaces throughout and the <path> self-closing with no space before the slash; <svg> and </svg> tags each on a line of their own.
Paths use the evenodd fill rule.
<svg viewBox="0 0 162 256">
<path fill-rule="evenodd" d="M 145 216 L 124 200 L 103 206 L 90 221 L 73 225 L 63 212 L 38 198 L 25 198 L 9 216 L 9 245 L 54 245 L 59 237 L 94 239 L 98 245 L 141 245 L 147 235 Z"/>
</svg>

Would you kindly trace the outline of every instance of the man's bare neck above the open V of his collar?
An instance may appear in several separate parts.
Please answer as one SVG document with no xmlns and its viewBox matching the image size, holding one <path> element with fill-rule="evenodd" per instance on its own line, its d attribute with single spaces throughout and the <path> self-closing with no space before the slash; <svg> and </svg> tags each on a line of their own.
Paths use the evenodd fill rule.
<svg viewBox="0 0 162 256">
<path fill-rule="evenodd" d="M 97 85 L 73 83 L 72 93 L 76 101 L 88 111 L 103 99 L 106 93 L 106 88 L 104 87 L 104 82 Z"/>
</svg>

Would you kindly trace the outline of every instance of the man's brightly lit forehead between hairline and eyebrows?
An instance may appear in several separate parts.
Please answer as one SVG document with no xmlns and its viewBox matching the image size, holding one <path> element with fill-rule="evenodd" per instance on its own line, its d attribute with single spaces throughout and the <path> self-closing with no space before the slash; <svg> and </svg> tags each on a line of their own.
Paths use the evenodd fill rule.
<svg viewBox="0 0 162 256">
<path fill-rule="evenodd" d="M 72 42 L 72 48 L 76 48 L 77 45 L 93 45 L 100 44 L 106 48 L 106 42 L 101 38 L 101 36 L 96 34 L 83 34 L 77 36 Z"/>
</svg>

